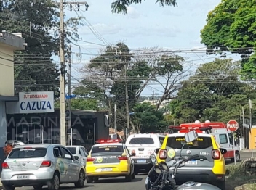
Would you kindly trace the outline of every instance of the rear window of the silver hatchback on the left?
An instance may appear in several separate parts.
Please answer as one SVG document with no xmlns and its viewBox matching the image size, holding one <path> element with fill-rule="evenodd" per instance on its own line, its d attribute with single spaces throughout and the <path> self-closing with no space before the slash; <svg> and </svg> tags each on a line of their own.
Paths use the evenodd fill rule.
<svg viewBox="0 0 256 190">
<path fill-rule="evenodd" d="M 45 148 L 30 148 L 30 149 L 12 149 L 8 158 L 29 158 L 29 157 L 44 157 L 47 154 Z"/>
</svg>

